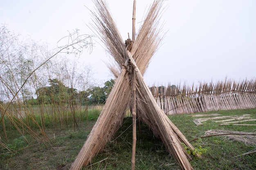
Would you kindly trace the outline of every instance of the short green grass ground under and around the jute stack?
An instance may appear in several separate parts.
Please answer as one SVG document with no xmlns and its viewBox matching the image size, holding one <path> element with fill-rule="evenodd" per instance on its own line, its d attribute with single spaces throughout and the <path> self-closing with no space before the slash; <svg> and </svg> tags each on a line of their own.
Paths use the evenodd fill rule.
<svg viewBox="0 0 256 170">
<path fill-rule="evenodd" d="M 219 115 L 211 115 L 218 113 Z M 202 113 L 200 113 L 202 114 Z M 168 116 L 171 121 L 182 131 L 190 141 L 197 137 L 204 136 L 207 130 L 219 129 L 229 131 L 255 132 L 256 121 L 244 121 L 241 124 L 254 124 L 255 126 L 242 125 L 220 125 L 220 120 L 231 119 L 248 114 L 249 119 L 256 119 L 256 109 L 229 110 L 204 113 L 200 117 L 193 115 L 172 115 Z M 230 116 L 222 117 L 221 116 Z M 202 121 L 197 126 L 193 120 L 200 118 L 213 118 Z M 202 120 L 202 119 L 201 119 Z M 79 122 L 80 131 L 72 129 L 46 130 L 52 140 L 52 146 L 43 144 L 27 144 L 24 137 L 19 137 L 18 132 L 12 130 L 9 133 L 8 146 L 12 150 L 22 149 L 18 152 L 7 153 L 8 150 L 0 146 L 0 169 L 1 170 L 68 170 L 83 146 L 87 136 L 92 129 L 96 119 Z M 216 122 L 217 121 L 217 122 Z M 234 121 L 234 120 L 233 120 Z M 123 126 L 113 137 L 106 148 L 92 160 L 92 165 L 83 169 L 112 170 L 130 169 L 132 153 L 132 119 L 126 117 Z M 2 134 L 1 134 L 2 136 Z M 255 139 L 255 138 L 254 138 Z M 1 140 L 4 143 L 4 140 Z M 255 151 L 256 144 L 245 144 L 232 140 L 227 136 L 205 137 L 192 141 L 198 152 L 202 153 L 202 159 L 193 157 L 191 165 L 195 170 L 253 170 L 256 169 L 256 153 L 242 155 L 246 152 Z M 192 153 L 192 151 L 191 151 Z M 137 123 L 137 148 L 136 148 L 136 169 L 138 170 L 178 170 L 180 169 L 175 160 L 166 152 L 161 140 L 154 137 L 153 132 L 143 123 Z"/>
</svg>

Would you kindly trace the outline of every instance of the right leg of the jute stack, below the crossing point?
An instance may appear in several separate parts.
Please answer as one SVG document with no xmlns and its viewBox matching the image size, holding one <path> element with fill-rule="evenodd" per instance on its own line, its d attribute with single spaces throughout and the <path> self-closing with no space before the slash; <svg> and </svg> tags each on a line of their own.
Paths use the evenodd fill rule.
<svg viewBox="0 0 256 170">
<path fill-rule="evenodd" d="M 161 108 L 159 108 L 139 69 L 135 69 L 135 74 L 138 82 L 136 91 L 139 91 L 137 98 L 140 99 L 138 102 L 141 102 L 139 110 L 142 113 L 142 121 L 148 124 L 154 134 L 162 139 L 166 149 L 173 155 L 180 168 L 183 170 L 192 170 L 193 168 L 187 159 L 189 155 L 187 155 L 186 150 L 177 137 L 177 135 L 182 137 L 182 133 L 171 123 Z M 177 134 L 175 134 L 174 130 Z"/>
</svg>

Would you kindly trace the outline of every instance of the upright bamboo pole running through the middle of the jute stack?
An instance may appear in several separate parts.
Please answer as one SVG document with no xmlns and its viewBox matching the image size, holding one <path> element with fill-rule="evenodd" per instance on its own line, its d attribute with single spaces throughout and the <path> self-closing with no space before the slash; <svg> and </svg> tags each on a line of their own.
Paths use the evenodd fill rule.
<svg viewBox="0 0 256 170">
<path fill-rule="evenodd" d="M 132 42 L 135 42 L 135 16 L 136 16 L 136 0 L 133 1 L 132 11 Z M 135 170 L 135 155 L 136 155 L 136 86 L 135 86 L 135 70 L 132 67 L 132 161 L 131 169 Z"/>
</svg>

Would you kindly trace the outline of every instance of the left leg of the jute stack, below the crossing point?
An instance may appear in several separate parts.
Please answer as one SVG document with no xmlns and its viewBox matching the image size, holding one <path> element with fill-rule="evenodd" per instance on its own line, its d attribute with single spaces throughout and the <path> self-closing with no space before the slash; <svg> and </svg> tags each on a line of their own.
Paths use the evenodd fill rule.
<svg viewBox="0 0 256 170">
<path fill-rule="evenodd" d="M 82 166 L 88 165 L 121 126 L 131 97 L 130 83 L 126 75 L 126 69 L 123 69 L 71 170 L 80 170 Z"/>
</svg>

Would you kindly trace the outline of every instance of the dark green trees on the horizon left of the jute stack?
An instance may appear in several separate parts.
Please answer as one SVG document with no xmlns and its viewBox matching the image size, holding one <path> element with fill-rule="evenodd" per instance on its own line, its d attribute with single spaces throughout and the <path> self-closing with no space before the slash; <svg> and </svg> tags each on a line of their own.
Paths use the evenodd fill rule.
<svg viewBox="0 0 256 170">
<path fill-rule="evenodd" d="M 59 79 L 49 79 L 49 86 L 40 87 L 36 90 L 36 99 L 26 99 L 25 104 L 66 104 L 66 105 L 96 105 L 104 104 L 114 80 L 110 79 L 103 87 L 92 86 L 87 90 L 77 91 L 76 88 L 65 86 Z"/>
</svg>

